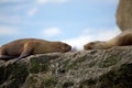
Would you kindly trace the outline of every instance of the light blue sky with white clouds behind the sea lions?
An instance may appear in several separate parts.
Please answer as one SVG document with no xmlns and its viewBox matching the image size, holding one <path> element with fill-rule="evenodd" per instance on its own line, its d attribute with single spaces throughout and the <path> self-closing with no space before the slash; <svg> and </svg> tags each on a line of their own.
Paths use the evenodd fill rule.
<svg viewBox="0 0 132 88">
<path fill-rule="evenodd" d="M 19 38 L 63 41 L 82 50 L 120 33 L 119 0 L 0 0 L 0 45 Z"/>
</svg>

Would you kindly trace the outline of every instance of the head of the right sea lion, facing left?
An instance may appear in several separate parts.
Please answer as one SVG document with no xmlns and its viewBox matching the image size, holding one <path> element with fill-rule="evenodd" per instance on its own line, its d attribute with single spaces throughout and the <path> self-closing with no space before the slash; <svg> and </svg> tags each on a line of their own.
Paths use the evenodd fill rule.
<svg viewBox="0 0 132 88">
<path fill-rule="evenodd" d="M 84 45 L 84 50 L 98 50 L 98 48 L 105 48 L 105 42 L 101 41 L 95 41 L 90 42 L 88 44 Z"/>
</svg>

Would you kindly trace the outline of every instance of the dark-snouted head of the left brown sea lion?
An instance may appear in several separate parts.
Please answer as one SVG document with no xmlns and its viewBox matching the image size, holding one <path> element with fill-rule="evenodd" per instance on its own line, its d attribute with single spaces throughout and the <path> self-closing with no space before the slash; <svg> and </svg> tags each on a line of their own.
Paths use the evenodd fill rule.
<svg viewBox="0 0 132 88">
<path fill-rule="evenodd" d="M 66 43 L 63 43 L 63 42 L 56 42 L 56 43 L 57 43 L 58 52 L 66 53 L 72 50 L 72 46 Z"/>
</svg>

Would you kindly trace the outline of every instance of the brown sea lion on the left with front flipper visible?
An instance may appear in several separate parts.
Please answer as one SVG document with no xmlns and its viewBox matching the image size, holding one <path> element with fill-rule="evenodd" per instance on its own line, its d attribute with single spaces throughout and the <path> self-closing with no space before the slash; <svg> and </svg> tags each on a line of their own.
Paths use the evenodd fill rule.
<svg viewBox="0 0 132 88">
<path fill-rule="evenodd" d="M 63 42 L 50 42 L 38 38 L 22 38 L 4 44 L 0 47 L 0 59 L 19 59 L 34 54 L 68 52 L 72 46 Z M 14 62 L 14 63 L 15 63 Z"/>
</svg>

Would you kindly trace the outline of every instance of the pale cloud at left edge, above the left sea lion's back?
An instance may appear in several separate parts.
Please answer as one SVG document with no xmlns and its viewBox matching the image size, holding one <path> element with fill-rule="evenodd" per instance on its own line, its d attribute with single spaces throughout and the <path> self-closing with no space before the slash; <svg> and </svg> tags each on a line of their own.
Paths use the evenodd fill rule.
<svg viewBox="0 0 132 88">
<path fill-rule="evenodd" d="M 16 29 L 0 26 L 0 35 L 16 35 L 19 31 Z"/>
</svg>

